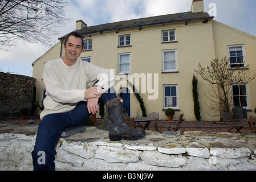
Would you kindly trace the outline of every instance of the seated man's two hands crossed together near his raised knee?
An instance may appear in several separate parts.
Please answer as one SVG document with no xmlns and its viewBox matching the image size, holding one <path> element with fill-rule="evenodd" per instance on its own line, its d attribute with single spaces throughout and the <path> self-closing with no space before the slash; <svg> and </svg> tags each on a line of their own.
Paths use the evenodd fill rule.
<svg viewBox="0 0 256 182">
<path fill-rule="evenodd" d="M 86 90 L 84 98 L 87 99 L 87 109 L 89 113 L 96 114 L 98 111 L 98 102 L 101 97 L 102 89 L 100 86 L 93 86 Z"/>
</svg>

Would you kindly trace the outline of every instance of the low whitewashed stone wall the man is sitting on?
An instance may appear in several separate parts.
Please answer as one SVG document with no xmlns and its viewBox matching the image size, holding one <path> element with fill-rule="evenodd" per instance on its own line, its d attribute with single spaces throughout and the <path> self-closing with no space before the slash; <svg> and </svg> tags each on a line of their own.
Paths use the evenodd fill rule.
<svg viewBox="0 0 256 182">
<path fill-rule="evenodd" d="M 28 128 L 30 127 L 30 128 Z M 34 128 L 31 128 L 34 127 Z M 1 126 L 2 131 L 7 127 Z M 12 133 L 0 130 L 0 170 L 32 170 L 35 126 Z M 86 131 L 61 138 L 56 148 L 56 170 L 256 170 L 256 135 L 186 132 L 164 135 L 147 130 L 136 141 L 110 142 L 108 131 Z"/>
</svg>

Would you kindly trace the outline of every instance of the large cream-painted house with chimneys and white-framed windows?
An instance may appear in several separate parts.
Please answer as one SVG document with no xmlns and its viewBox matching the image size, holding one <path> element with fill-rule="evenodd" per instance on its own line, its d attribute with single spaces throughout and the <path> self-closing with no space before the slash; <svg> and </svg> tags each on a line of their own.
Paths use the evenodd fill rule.
<svg viewBox="0 0 256 182">
<path fill-rule="evenodd" d="M 144 106 L 159 113 L 160 119 L 168 107 L 176 110 L 174 119 L 184 113 L 186 121 L 196 120 L 192 97 L 192 77 L 198 63 L 209 65 L 222 57 L 232 58 L 230 67 L 238 59 L 241 68 L 250 65 L 246 73 L 256 72 L 256 37 L 213 20 L 204 12 L 204 2 L 194 0 L 186 13 L 153 16 L 87 27 L 82 20 L 76 22 L 76 31 L 84 36 L 84 51 L 80 58 L 116 74 L 116 93 L 124 98 L 124 107 L 131 117 L 142 116 L 140 104 L 132 90 L 139 92 Z M 59 43 L 32 63 L 36 78 L 36 96 L 42 101 L 46 92 L 42 72 L 49 60 L 64 55 L 64 37 Z M 218 121 L 206 104 L 206 92 L 212 92 L 207 81 L 198 78 L 201 120 Z M 88 86 L 91 86 L 88 85 Z M 254 115 L 256 107 L 256 80 L 238 85 L 235 98 L 243 101 L 247 115 Z M 129 90 L 129 92 L 127 92 Z M 38 110 L 38 113 L 40 110 Z"/>
</svg>

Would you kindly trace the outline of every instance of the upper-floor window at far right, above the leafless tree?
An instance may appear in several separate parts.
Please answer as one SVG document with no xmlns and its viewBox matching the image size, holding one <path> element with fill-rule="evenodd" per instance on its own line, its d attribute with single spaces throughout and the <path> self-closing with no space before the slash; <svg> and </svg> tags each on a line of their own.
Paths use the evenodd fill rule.
<svg viewBox="0 0 256 182">
<path fill-rule="evenodd" d="M 230 68 L 243 68 L 245 67 L 245 50 L 243 45 L 228 46 L 229 52 L 229 66 Z"/>
</svg>

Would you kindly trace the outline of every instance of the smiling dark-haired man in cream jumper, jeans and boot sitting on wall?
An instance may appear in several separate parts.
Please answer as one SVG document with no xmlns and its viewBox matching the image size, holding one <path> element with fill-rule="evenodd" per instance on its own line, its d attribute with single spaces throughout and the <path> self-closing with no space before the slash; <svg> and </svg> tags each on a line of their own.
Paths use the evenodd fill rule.
<svg viewBox="0 0 256 182">
<path fill-rule="evenodd" d="M 109 69 L 78 60 L 83 46 L 83 36 L 71 32 L 64 42 L 65 55 L 44 65 L 46 98 L 32 151 L 34 170 L 55 170 L 55 148 L 62 131 L 80 125 L 90 114 L 95 114 L 99 99 L 107 109 L 110 140 L 134 140 L 146 135 L 144 130 L 125 124 L 123 100 L 113 92 L 114 74 Z M 87 84 L 94 80 L 97 80 L 95 86 L 87 89 Z M 45 164 L 38 163 L 42 152 L 46 156 Z"/>
</svg>

